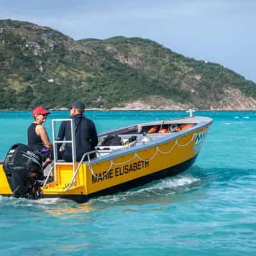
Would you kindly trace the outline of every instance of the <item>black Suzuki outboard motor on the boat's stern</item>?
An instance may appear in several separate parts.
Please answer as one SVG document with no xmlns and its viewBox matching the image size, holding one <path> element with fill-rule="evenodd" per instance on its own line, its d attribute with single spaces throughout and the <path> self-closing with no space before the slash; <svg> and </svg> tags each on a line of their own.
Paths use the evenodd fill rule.
<svg viewBox="0 0 256 256">
<path fill-rule="evenodd" d="M 4 172 L 13 196 L 36 199 L 40 196 L 38 179 L 42 177 L 42 158 L 30 147 L 15 144 L 4 159 Z"/>
</svg>

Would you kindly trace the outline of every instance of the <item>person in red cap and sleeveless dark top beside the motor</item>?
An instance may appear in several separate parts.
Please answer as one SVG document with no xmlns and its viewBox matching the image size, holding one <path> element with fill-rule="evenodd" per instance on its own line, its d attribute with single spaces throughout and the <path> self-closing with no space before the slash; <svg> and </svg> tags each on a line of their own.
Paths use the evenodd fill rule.
<svg viewBox="0 0 256 256">
<path fill-rule="evenodd" d="M 52 150 L 52 144 L 43 125 L 49 114 L 50 112 L 42 107 L 33 109 L 34 122 L 28 127 L 28 145 L 36 152 L 40 152 L 45 163 L 51 162 Z"/>
</svg>

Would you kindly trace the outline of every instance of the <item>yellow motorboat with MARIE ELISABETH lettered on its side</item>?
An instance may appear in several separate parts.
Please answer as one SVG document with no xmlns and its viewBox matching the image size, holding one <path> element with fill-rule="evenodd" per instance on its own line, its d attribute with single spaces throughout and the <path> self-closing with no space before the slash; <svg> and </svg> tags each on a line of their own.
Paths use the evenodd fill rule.
<svg viewBox="0 0 256 256">
<path fill-rule="evenodd" d="M 109 195 L 177 175 L 195 162 L 212 123 L 211 118 L 191 115 L 115 129 L 99 134 L 96 150 L 84 154 L 79 163 L 65 163 L 56 157 L 57 143 L 72 143 L 73 159 L 76 159 L 74 124 L 71 119 L 65 120 L 72 124 L 72 140 L 57 141 L 56 122 L 63 119 L 52 120 L 54 161 L 44 176 L 38 175 L 32 166 L 26 172 L 24 184 L 19 184 L 23 169 L 13 171 L 10 159 L 17 152 L 15 147 L 10 149 L 7 160 L 0 164 L 0 195 L 34 199 L 60 197 L 81 203 L 93 196 Z M 22 154 L 27 158 L 33 155 Z"/>
</svg>

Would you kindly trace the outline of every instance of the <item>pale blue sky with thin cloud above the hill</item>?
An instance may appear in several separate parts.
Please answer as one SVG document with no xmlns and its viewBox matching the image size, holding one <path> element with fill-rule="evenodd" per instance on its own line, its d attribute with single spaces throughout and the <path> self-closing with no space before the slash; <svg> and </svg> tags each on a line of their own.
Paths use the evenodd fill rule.
<svg viewBox="0 0 256 256">
<path fill-rule="evenodd" d="M 147 38 L 256 82 L 256 0 L 0 0 L 0 19 L 48 26 L 75 40 Z"/>
</svg>

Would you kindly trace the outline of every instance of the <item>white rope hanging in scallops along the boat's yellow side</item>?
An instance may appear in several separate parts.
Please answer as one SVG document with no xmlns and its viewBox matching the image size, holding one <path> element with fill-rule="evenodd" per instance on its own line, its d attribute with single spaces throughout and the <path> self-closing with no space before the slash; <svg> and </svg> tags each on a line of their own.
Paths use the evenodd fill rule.
<svg viewBox="0 0 256 256">
<path fill-rule="evenodd" d="M 152 159 L 154 159 L 154 157 L 156 156 L 157 152 L 159 152 L 160 154 L 169 154 L 170 152 L 172 152 L 172 150 L 175 148 L 175 146 L 177 145 L 178 147 L 186 147 L 188 146 L 195 138 L 195 133 L 193 133 L 193 136 L 191 138 L 191 140 L 188 141 L 188 143 L 185 144 L 179 144 L 178 140 L 175 140 L 175 143 L 173 144 L 172 148 L 170 148 L 170 150 L 164 152 L 162 150 L 159 149 L 159 147 L 156 147 L 156 151 L 154 152 L 154 154 L 149 158 L 149 159 L 142 159 L 140 156 L 138 156 L 137 153 L 134 153 L 134 156 L 127 160 L 124 161 L 122 163 L 114 163 L 113 160 L 110 161 L 110 166 L 108 168 L 108 171 L 106 171 L 106 173 L 104 173 L 104 175 L 96 175 L 93 171 L 92 165 L 89 166 L 90 171 L 92 172 L 93 177 L 95 177 L 96 179 L 103 179 L 106 175 L 108 175 L 109 171 L 111 170 L 113 165 L 122 165 L 122 164 L 127 164 L 129 162 L 131 162 L 133 159 L 135 159 L 135 157 L 137 157 L 140 161 L 146 162 L 146 161 L 151 161 Z"/>
</svg>

